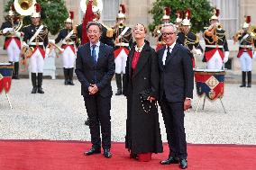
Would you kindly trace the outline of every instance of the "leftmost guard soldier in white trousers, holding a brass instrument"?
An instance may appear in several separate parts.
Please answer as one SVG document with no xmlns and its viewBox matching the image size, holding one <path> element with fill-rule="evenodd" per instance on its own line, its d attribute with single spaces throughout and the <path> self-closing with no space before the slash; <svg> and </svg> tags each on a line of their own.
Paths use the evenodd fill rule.
<svg viewBox="0 0 256 170">
<path fill-rule="evenodd" d="M 14 11 L 9 11 L 7 17 L 13 16 Z M 14 64 L 14 79 L 19 78 L 19 58 L 21 55 L 21 37 L 23 36 L 20 31 L 15 31 L 19 23 L 20 22 L 17 21 L 12 22 L 11 19 L 9 19 L 3 22 L 0 28 L 1 34 L 5 36 L 4 49 L 7 51 L 8 60 L 10 63 Z"/>
</svg>

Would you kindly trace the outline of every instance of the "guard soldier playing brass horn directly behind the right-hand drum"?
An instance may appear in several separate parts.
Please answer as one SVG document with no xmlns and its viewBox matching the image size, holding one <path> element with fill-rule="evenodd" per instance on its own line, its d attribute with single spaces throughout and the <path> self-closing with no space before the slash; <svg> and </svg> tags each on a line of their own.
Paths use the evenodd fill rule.
<svg viewBox="0 0 256 170">
<path fill-rule="evenodd" d="M 212 20 L 218 20 L 214 15 Z M 207 69 L 223 69 L 224 63 L 228 60 L 229 49 L 225 38 L 225 31 L 219 23 L 213 28 L 207 28 L 203 35 L 206 42 L 203 62 L 206 62 Z"/>
</svg>

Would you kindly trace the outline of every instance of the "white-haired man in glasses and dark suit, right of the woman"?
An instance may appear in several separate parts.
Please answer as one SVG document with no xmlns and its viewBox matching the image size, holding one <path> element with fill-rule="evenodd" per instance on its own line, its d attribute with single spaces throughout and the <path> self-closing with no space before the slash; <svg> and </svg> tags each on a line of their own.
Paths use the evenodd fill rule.
<svg viewBox="0 0 256 170">
<path fill-rule="evenodd" d="M 192 54 L 189 49 L 179 45 L 177 28 L 165 24 L 161 30 L 165 48 L 158 51 L 160 64 L 160 109 L 163 115 L 167 139 L 169 143 L 169 158 L 161 161 L 161 165 L 178 164 L 187 168 L 187 142 L 184 128 L 184 111 L 190 105 L 193 97 L 194 76 Z"/>
</svg>

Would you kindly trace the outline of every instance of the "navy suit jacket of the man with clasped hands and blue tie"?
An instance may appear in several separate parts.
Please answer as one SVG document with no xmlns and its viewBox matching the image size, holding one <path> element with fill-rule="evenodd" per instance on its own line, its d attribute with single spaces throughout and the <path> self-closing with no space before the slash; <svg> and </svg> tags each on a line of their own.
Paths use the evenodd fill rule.
<svg viewBox="0 0 256 170">
<path fill-rule="evenodd" d="M 89 96 L 88 87 L 96 84 L 102 97 L 112 95 L 111 79 L 114 76 L 114 53 L 113 48 L 100 43 L 96 65 L 91 56 L 90 43 L 78 48 L 76 60 L 76 74 L 81 83 L 81 94 Z"/>
</svg>

